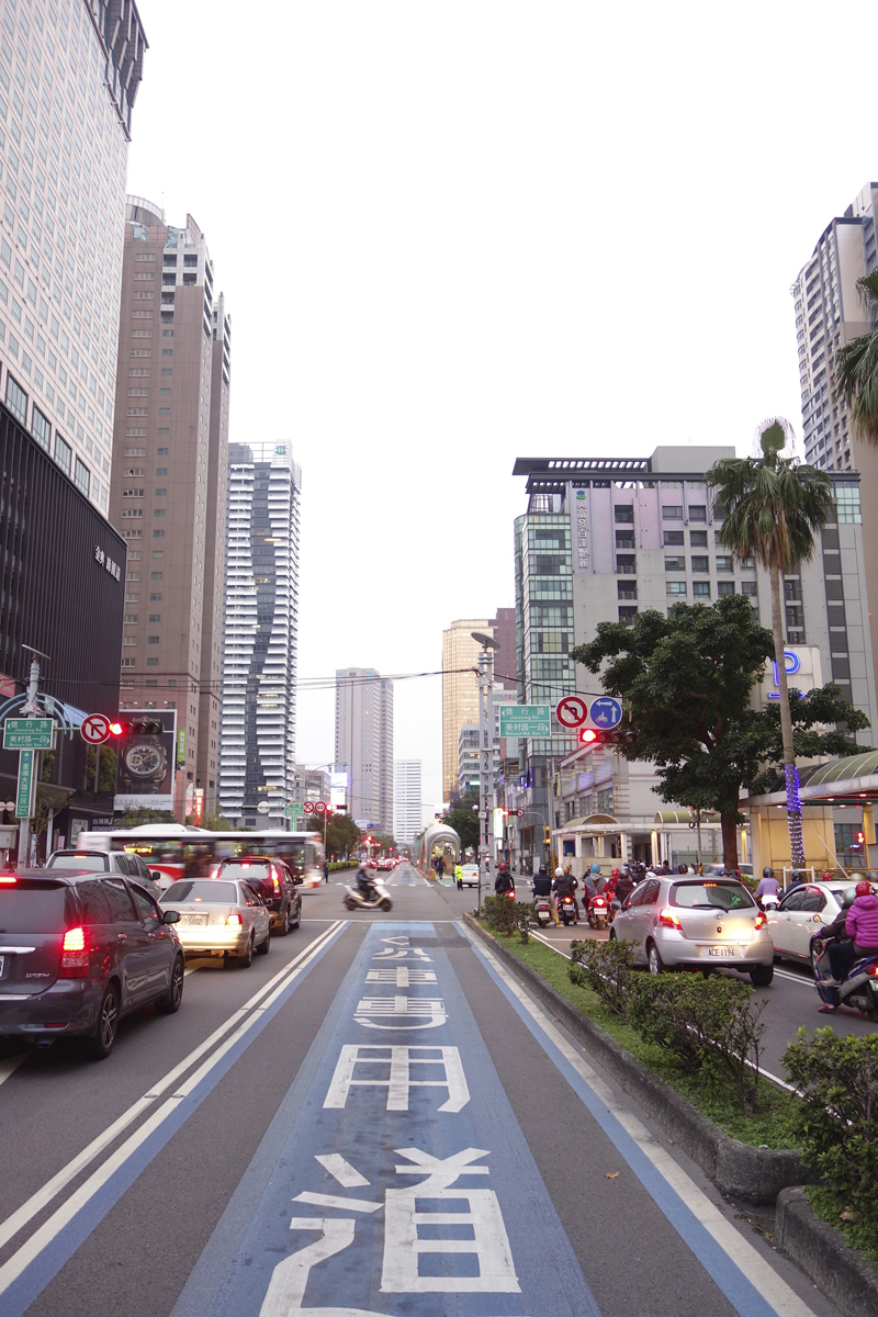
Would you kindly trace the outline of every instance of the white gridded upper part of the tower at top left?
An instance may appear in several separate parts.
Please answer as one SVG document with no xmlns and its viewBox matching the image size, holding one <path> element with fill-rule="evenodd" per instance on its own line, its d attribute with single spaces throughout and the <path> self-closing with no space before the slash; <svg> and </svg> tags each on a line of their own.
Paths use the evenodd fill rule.
<svg viewBox="0 0 878 1317">
<path fill-rule="evenodd" d="M 108 512 L 125 173 L 146 38 L 132 0 L 0 0 L 0 390 Z M 14 53 L 13 53 L 14 51 Z"/>
</svg>

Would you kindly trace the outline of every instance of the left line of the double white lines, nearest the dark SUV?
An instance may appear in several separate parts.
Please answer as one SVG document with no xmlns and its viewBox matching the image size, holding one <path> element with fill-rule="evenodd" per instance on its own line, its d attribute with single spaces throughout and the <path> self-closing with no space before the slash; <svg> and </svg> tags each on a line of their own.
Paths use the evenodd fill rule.
<svg viewBox="0 0 878 1317">
<path fill-rule="evenodd" d="M 74 1180 L 91 1162 L 93 1162 L 95 1158 L 100 1156 L 104 1148 L 107 1148 L 122 1133 L 122 1130 L 128 1129 L 128 1126 L 142 1115 L 143 1112 L 149 1110 L 161 1093 L 171 1088 L 172 1084 L 176 1084 L 178 1079 L 180 1079 L 180 1076 L 184 1075 L 196 1060 L 209 1051 L 224 1034 L 228 1034 L 228 1031 L 241 1023 L 241 1021 L 255 1019 L 255 1013 L 250 1015 L 249 1011 L 254 1009 L 259 998 L 265 996 L 265 993 L 271 992 L 275 984 L 286 979 L 294 967 L 296 967 L 305 956 L 315 950 L 320 950 L 328 940 L 330 940 L 344 923 L 345 921 L 336 919 L 332 928 L 328 928 L 324 934 L 315 938 L 315 940 L 305 947 L 304 951 L 299 952 L 292 961 L 288 961 L 284 968 L 274 976 L 274 979 L 270 979 L 267 984 L 263 984 L 263 986 L 259 988 L 259 990 L 254 993 L 254 996 L 250 997 L 244 1006 L 238 1008 L 238 1010 L 229 1015 L 229 1018 L 224 1021 L 219 1029 L 215 1029 L 209 1038 L 205 1038 L 203 1043 L 199 1043 L 199 1046 L 184 1056 L 178 1065 L 170 1069 L 157 1084 L 153 1084 L 149 1093 L 138 1098 L 137 1102 L 133 1102 L 132 1106 L 129 1106 L 126 1112 L 122 1112 L 122 1114 L 113 1121 L 112 1125 L 108 1125 L 107 1129 L 97 1135 L 97 1138 L 92 1139 L 92 1142 L 82 1150 L 82 1152 L 76 1154 L 76 1156 L 72 1158 L 67 1166 L 62 1167 L 62 1169 L 58 1171 L 51 1180 L 47 1180 L 46 1184 L 43 1184 L 41 1189 L 37 1189 L 37 1192 L 32 1195 L 26 1202 L 22 1202 L 22 1205 L 13 1212 L 12 1216 L 0 1222 L 0 1247 L 8 1243 L 9 1239 L 12 1239 L 13 1235 L 16 1235 L 29 1221 L 32 1221 L 38 1212 L 42 1212 L 42 1209 L 47 1206 L 47 1204 L 51 1202 L 58 1193 L 61 1193 L 65 1185 L 70 1184 L 70 1181 Z M 286 986 L 286 984 L 283 986 Z M 270 1000 L 274 1000 L 274 996 L 276 994 L 272 994 Z M 224 1048 L 224 1052 L 225 1050 L 228 1048 Z M 197 1073 L 200 1075 L 200 1071 Z M 180 1093 L 175 1094 L 174 1104 L 180 1096 Z M 162 1110 L 165 1110 L 165 1108 L 162 1108 Z M 162 1119 L 163 1118 L 165 1117 L 162 1117 Z"/>
</svg>

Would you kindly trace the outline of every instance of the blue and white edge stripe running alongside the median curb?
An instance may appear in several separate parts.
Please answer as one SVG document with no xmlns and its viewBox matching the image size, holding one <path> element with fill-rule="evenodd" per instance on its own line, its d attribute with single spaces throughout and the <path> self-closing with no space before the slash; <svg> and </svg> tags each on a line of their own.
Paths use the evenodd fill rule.
<svg viewBox="0 0 878 1317">
<path fill-rule="evenodd" d="M 511 973 L 458 925 L 533 1038 L 565 1076 L 644 1188 L 741 1317 L 813 1317 L 649 1130 L 620 1104 Z"/>
</svg>

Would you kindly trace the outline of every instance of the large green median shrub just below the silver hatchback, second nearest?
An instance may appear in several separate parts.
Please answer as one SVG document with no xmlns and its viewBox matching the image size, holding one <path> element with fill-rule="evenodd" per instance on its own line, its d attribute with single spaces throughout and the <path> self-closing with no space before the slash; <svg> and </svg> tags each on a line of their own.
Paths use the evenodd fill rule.
<svg viewBox="0 0 878 1317">
<path fill-rule="evenodd" d="M 640 976 L 629 1019 L 641 1038 L 667 1048 L 684 1073 L 708 1087 L 731 1085 L 745 1112 L 758 1100 L 765 1002 L 737 979 L 711 975 Z"/>
</svg>

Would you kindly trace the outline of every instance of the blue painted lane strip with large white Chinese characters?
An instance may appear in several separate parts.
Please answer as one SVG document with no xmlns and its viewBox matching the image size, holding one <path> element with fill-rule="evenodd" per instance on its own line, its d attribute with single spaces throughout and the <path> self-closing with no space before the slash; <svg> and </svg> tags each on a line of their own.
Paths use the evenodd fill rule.
<svg viewBox="0 0 878 1317">
<path fill-rule="evenodd" d="M 599 1317 L 434 936 L 370 928 L 176 1317 Z"/>
</svg>

